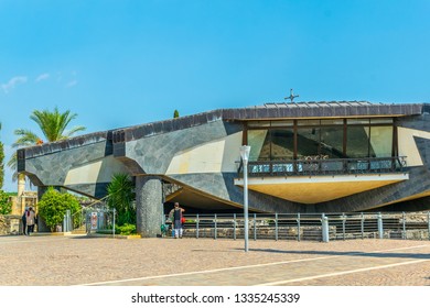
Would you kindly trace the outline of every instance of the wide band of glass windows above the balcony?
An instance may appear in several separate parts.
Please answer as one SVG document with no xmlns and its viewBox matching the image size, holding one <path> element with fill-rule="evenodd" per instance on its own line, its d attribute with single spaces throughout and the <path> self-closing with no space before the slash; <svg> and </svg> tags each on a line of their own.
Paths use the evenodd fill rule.
<svg viewBox="0 0 430 308">
<path fill-rule="evenodd" d="M 344 119 L 254 121 L 248 124 L 250 161 L 391 156 L 393 119 L 347 119 L 346 125 L 344 121 Z"/>
</svg>

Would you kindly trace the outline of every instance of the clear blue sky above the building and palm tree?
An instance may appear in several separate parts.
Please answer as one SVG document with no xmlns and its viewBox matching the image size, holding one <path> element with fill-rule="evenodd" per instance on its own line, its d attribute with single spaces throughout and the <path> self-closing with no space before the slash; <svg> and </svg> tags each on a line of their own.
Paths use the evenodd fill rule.
<svg viewBox="0 0 430 308">
<path fill-rule="evenodd" d="M 219 108 L 430 100 L 427 0 L 0 0 L 0 140 L 33 110 L 86 133 Z M 6 160 L 6 161 L 7 161 Z M 15 191 L 7 169 L 4 190 Z"/>
</svg>

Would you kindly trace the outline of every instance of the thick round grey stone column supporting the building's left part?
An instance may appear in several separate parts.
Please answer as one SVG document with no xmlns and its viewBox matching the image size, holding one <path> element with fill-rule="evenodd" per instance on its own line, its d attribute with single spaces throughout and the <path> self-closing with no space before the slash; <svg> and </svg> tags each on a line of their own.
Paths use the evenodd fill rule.
<svg viewBox="0 0 430 308">
<path fill-rule="evenodd" d="M 157 176 L 136 177 L 137 232 L 142 238 L 155 238 L 161 233 L 163 190 Z"/>
</svg>

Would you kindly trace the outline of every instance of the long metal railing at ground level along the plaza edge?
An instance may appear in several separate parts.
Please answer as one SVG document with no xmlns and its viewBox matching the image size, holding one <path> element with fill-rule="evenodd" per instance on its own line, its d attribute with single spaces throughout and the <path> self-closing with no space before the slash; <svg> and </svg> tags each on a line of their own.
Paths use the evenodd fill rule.
<svg viewBox="0 0 430 308">
<path fill-rule="evenodd" d="M 184 215 L 186 238 L 244 239 L 244 215 Z M 249 215 L 249 240 L 430 240 L 430 212 Z"/>
</svg>

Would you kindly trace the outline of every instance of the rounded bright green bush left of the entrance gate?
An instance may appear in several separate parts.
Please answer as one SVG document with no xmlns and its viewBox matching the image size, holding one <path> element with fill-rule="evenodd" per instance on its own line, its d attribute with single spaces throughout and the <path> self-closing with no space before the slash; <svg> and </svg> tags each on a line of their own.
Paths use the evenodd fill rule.
<svg viewBox="0 0 430 308">
<path fill-rule="evenodd" d="M 50 187 L 43 194 L 37 208 L 39 215 L 45 221 L 46 227 L 54 231 L 57 224 L 63 223 L 66 210 L 71 210 L 73 215 L 80 210 L 80 205 L 75 196 L 67 193 L 62 194 Z"/>
</svg>

